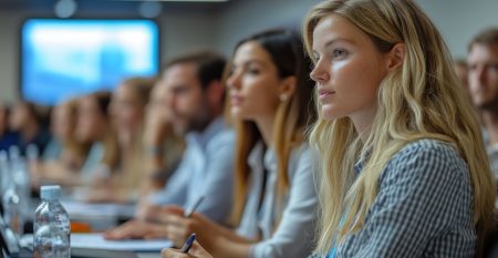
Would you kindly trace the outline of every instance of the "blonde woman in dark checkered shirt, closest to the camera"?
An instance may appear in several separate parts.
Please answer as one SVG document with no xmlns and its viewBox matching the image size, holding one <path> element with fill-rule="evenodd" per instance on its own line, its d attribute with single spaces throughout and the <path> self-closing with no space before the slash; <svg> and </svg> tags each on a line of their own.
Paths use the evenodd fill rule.
<svg viewBox="0 0 498 258">
<path fill-rule="evenodd" d="M 475 257 L 495 185 L 448 50 L 407 0 L 314 7 L 323 257 Z"/>
</svg>

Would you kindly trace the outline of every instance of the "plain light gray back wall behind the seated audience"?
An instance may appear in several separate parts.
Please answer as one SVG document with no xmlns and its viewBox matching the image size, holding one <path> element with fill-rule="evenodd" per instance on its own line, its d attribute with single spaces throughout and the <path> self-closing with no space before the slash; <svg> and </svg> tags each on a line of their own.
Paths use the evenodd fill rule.
<svg viewBox="0 0 498 258">
<path fill-rule="evenodd" d="M 321 0 L 231 0 L 219 10 L 165 10 L 159 18 L 163 60 L 195 49 L 230 54 L 241 38 L 270 27 L 299 29 L 309 9 Z M 455 56 L 485 27 L 498 25 L 497 0 L 416 0 L 439 28 Z M 18 99 L 19 28 L 22 13 L 0 10 L 0 102 Z"/>
</svg>

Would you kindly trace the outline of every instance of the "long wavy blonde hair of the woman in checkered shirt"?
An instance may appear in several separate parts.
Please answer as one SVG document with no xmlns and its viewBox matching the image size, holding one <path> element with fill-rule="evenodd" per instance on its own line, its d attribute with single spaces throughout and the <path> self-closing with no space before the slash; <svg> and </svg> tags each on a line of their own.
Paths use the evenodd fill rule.
<svg viewBox="0 0 498 258">
<path fill-rule="evenodd" d="M 319 117 L 310 142 L 322 155 L 318 248 L 325 254 L 333 241 L 357 231 L 377 195 L 378 177 L 406 144 L 434 138 L 458 149 L 467 162 L 474 192 L 474 223 L 483 241 L 494 211 L 495 180 L 489 168 L 477 115 L 452 69 L 442 35 L 411 0 L 333 0 L 315 6 L 303 24 L 307 51 L 321 19 L 335 14 L 363 31 L 376 49 L 388 52 L 405 44 L 401 69 L 381 82 L 371 134 L 363 143 L 350 118 Z M 320 104 L 318 104 L 320 110 Z M 353 166 L 365 158 L 354 178 Z M 344 223 L 340 223 L 344 214 Z"/>
</svg>

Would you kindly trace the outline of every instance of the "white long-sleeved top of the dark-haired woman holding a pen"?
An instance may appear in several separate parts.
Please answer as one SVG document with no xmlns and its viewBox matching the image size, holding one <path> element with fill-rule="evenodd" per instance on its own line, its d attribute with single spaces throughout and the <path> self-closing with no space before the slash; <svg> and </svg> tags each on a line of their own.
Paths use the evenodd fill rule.
<svg viewBox="0 0 498 258">
<path fill-rule="evenodd" d="M 249 193 L 237 233 L 252 239 L 261 236 L 262 241 L 250 249 L 251 258 L 307 257 L 312 251 L 318 205 L 311 152 L 305 144 L 292 151 L 288 171 L 289 190 L 280 207 L 276 199 L 277 157 L 271 149 L 263 152 L 262 143 L 258 143 L 249 155 Z M 267 169 L 267 186 L 258 211 L 263 166 Z"/>
</svg>

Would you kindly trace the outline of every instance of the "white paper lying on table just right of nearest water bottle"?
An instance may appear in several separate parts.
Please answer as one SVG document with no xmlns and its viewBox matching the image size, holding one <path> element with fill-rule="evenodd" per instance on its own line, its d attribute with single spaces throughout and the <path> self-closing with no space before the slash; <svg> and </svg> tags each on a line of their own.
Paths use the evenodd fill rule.
<svg viewBox="0 0 498 258">
<path fill-rule="evenodd" d="M 172 247 L 167 239 L 151 240 L 106 240 L 102 234 L 71 234 L 71 248 L 89 248 L 122 251 L 160 251 L 163 248 Z"/>
</svg>

